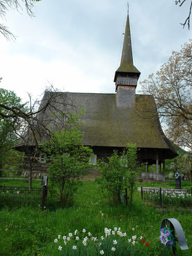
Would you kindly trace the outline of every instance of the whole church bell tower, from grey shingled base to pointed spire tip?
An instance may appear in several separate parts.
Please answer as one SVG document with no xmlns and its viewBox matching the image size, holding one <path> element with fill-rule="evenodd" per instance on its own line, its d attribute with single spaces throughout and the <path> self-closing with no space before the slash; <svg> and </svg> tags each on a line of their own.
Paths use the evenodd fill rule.
<svg viewBox="0 0 192 256">
<path fill-rule="evenodd" d="M 115 72 L 116 101 L 119 108 L 131 108 L 140 72 L 133 65 L 129 12 L 127 13 L 121 63 Z"/>
</svg>

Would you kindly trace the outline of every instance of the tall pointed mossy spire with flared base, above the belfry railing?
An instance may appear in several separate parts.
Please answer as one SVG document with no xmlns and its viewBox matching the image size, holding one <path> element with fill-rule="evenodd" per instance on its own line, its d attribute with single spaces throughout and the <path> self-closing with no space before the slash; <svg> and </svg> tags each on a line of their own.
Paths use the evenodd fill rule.
<svg viewBox="0 0 192 256">
<path fill-rule="evenodd" d="M 115 72 L 114 82 L 116 82 L 118 75 L 132 76 L 132 77 L 136 76 L 138 78 L 140 76 L 140 72 L 133 65 L 129 12 L 127 13 L 127 19 L 126 19 L 121 63 L 120 63 L 120 67 Z"/>
</svg>

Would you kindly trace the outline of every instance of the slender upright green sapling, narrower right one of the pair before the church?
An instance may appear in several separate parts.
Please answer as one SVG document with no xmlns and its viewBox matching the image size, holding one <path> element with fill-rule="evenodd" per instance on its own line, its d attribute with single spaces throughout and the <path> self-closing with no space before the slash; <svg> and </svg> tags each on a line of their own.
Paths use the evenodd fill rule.
<svg viewBox="0 0 192 256">
<path fill-rule="evenodd" d="M 142 170 L 142 165 L 137 161 L 137 147 L 135 144 L 128 144 L 121 156 L 124 169 L 124 182 L 129 190 L 130 207 L 132 206 L 133 191 L 136 178 Z"/>
</svg>

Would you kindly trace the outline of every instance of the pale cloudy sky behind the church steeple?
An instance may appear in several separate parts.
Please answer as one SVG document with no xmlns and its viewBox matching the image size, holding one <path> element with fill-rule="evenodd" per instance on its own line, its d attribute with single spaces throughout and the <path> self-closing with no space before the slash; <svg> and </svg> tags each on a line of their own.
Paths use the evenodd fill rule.
<svg viewBox="0 0 192 256">
<path fill-rule="evenodd" d="M 134 65 L 139 80 L 156 73 L 172 51 L 179 51 L 191 31 L 183 29 L 188 3 L 130 0 Z M 16 36 L 0 36 L 2 88 L 24 101 L 40 97 L 48 83 L 69 92 L 114 93 L 121 57 L 127 0 L 42 0 L 35 17 L 9 11 L 0 20 Z M 192 29 L 192 24 L 191 24 Z M 140 87 L 137 87 L 137 93 Z"/>
</svg>

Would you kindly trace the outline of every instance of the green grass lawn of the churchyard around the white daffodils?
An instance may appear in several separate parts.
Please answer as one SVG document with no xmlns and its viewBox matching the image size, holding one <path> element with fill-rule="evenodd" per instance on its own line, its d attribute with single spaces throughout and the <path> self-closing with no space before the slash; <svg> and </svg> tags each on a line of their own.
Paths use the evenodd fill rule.
<svg viewBox="0 0 192 256">
<path fill-rule="evenodd" d="M 16 181 L 7 182 L 0 180 L 0 182 L 2 185 L 8 185 L 8 183 L 13 186 L 18 185 Z M 37 187 L 39 186 L 38 181 L 37 183 L 34 181 L 33 184 Z M 152 184 L 153 183 L 145 185 L 152 186 Z M 142 185 L 144 186 L 144 183 L 142 183 Z M 166 183 L 156 183 L 154 186 L 165 187 L 166 185 Z M 186 186 L 188 185 L 190 184 L 186 183 Z M 141 183 L 137 183 L 137 186 L 141 186 Z M 184 183 L 182 187 L 184 187 Z M 0 255 L 37 256 L 39 254 L 40 256 L 91 256 L 94 255 L 93 252 L 91 252 L 94 245 L 90 244 L 90 250 L 86 250 L 85 248 L 87 247 L 82 246 L 82 244 L 81 246 L 79 245 L 79 250 L 81 247 L 82 250 L 80 254 L 78 254 L 78 250 L 72 250 L 71 248 L 75 241 L 71 241 L 71 244 L 65 248 L 64 243 L 59 240 L 59 243 L 62 243 L 62 247 L 65 248 L 65 254 L 63 254 L 63 251 L 58 250 L 58 245 L 60 244 L 54 243 L 54 239 L 58 238 L 58 234 L 60 234 L 61 237 L 68 236 L 69 232 L 74 234 L 76 229 L 79 231 L 79 237 L 82 237 L 83 228 L 86 229 L 86 236 L 88 236 L 87 232 L 90 231 L 94 237 L 100 238 L 104 236 L 105 227 L 111 229 L 120 227 L 122 232 L 126 232 L 127 236 L 123 238 L 125 240 L 119 241 L 119 246 L 123 245 L 124 241 L 126 241 L 126 246 L 129 246 L 127 239 L 132 238 L 133 235 L 137 237 L 142 236 L 145 242 L 150 244 L 146 247 L 145 244 L 139 241 L 137 247 L 132 245 L 131 248 L 133 250 L 139 248 L 139 252 L 134 252 L 135 254 L 133 255 L 168 256 L 172 255 L 172 252 L 163 248 L 163 245 L 159 241 L 160 223 L 163 218 L 176 218 L 183 227 L 189 250 L 182 251 L 177 245 L 178 255 L 190 256 L 192 254 L 192 213 L 190 211 L 169 209 L 159 212 L 155 207 L 143 205 L 140 192 L 137 190 L 135 190 L 133 205 L 130 209 L 126 207 L 125 203 L 110 204 L 103 197 L 98 188 L 99 186 L 93 181 L 82 182 L 74 198 L 74 205 L 63 209 L 58 208 L 54 211 L 47 209 L 42 212 L 40 207 L 33 208 L 32 206 L 23 206 L 21 208 L 15 206 L 15 208 L 9 210 L 5 206 L 0 210 Z M 100 211 L 103 213 L 103 217 Z M 135 228 L 135 230 L 133 231 L 132 228 Z M 110 250 L 111 247 L 107 247 L 111 246 L 112 243 L 112 241 L 108 241 L 108 243 L 105 242 L 105 244 L 102 245 L 103 247 L 99 247 L 99 250 L 102 248 Z M 114 254 L 112 251 L 110 253 L 111 254 L 107 255 L 124 255 L 122 252 L 118 254 L 118 250 L 116 250 Z M 98 255 L 100 255 L 99 251 Z"/>
</svg>

